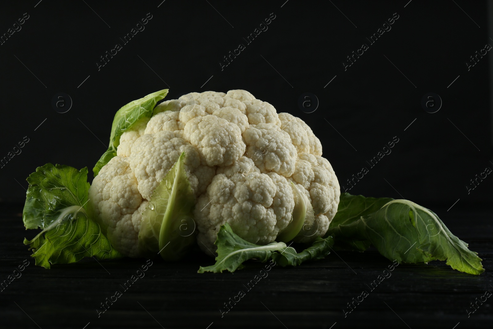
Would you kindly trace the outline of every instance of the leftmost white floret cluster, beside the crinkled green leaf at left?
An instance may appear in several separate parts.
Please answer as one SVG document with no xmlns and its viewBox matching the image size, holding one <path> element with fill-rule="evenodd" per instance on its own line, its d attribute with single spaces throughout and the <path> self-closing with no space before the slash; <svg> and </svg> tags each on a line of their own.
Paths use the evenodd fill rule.
<svg viewBox="0 0 493 329">
<path fill-rule="evenodd" d="M 139 256 L 143 203 L 137 179 L 125 157 L 115 156 L 101 169 L 89 188 L 89 200 L 111 245 L 124 255 Z"/>
</svg>

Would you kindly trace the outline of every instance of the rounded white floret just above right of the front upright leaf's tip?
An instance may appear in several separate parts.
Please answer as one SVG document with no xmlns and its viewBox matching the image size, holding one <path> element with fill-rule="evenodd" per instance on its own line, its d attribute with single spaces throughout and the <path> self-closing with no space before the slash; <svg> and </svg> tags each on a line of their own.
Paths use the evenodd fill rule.
<svg viewBox="0 0 493 329">
<path fill-rule="evenodd" d="M 238 125 L 215 115 L 191 119 L 183 131 L 185 140 L 196 146 L 204 164 L 229 166 L 245 153 Z"/>
</svg>

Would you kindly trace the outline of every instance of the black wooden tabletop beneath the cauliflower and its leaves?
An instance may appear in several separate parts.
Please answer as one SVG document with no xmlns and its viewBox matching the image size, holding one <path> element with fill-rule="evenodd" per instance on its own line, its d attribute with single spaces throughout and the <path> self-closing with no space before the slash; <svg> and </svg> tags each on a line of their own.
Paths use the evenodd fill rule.
<svg viewBox="0 0 493 329">
<path fill-rule="evenodd" d="M 493 223 L 488 211 L 434 209 L 449 229 L 483 258 L 486 271 L 473 276 L 445 262 L 401 264 L 371 291 L 367 285 L 391 264 L 378 252 L 338 252 L 297 268 L 273 267 L 251 289 L 244 287 L 262 264 L 234 274 L 198 274 L 213 261 L 199 253 L 178 263 L 153 260 L 127 291 L 120 286 L 145 264 L 124 258 L 34 265 L 23 238 L 22 205 L 0 205 L 0 279 L 25 259 L 22 276 L 0 292 L 0 328 L 491 328 L 493 296 L 468 318 L 466 309 L 493 292 Z M 98 317 L 96 309 L 116 290 L 122 295 Z M 242 290 L 245 296 L 221 317 L 219 309 Z M 369 295 L 347 316 L 347 303 Z M 87 326 L 87 327 L 84 327 Z M 457 327 L 455 327 L 457 326 Z"/>
</svg>

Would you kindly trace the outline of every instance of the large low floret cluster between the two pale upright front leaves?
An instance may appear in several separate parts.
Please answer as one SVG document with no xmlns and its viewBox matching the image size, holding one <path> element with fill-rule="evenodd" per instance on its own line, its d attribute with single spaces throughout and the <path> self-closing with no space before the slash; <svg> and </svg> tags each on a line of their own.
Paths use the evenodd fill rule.
<svg viewBox="0 0 493 329">
<path fill-rule="evenodd" d="M 271 243 L 291 220 L 293 200 L 290 183 L 278 174 L 253 171 L 231 178 L 218 174 L 195 208 L 199 247 L 212 255 L 225 222 L 246 241 Z"/>
</svg>

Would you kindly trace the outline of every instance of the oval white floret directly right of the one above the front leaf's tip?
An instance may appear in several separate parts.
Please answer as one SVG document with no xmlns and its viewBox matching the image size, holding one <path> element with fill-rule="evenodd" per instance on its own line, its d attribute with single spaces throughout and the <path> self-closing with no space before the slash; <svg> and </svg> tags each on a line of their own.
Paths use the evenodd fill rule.
<svg viewBox="0 0 493 329">
<path fill-rule="evenodd" d="M 288 133 L 272 123 L 260 123 L 247 129 L 243 137 L 248 156 L 262 173 L 293 174 L 297 152 Z"/>
</svg>

